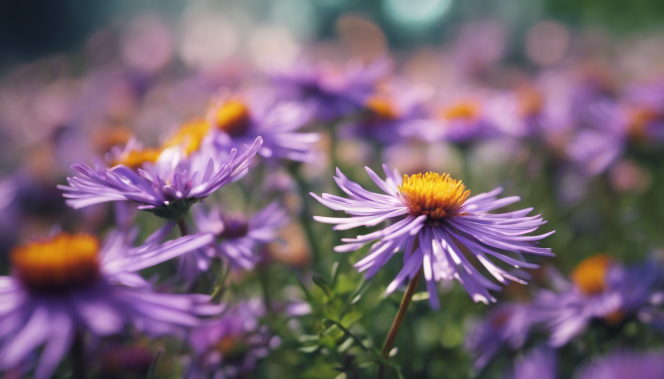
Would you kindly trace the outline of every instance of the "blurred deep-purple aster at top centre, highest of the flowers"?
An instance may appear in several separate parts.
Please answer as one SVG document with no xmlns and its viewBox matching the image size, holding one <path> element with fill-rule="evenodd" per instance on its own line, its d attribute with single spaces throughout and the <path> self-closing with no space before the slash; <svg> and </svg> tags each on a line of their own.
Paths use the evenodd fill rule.
<svg viewBox="0 0 664 379">
<path fill-rule="evenodd" d="M 317 119 L 333 121 L 359 111 L 391 68 L 388 58 L 370 64 L 351 60 L 345 70 L 327 62 L 299 62 L 291 72 L 276 76 L 274 82 L 282 96 L 312 108 Z"/>
</svg>

